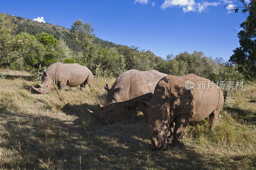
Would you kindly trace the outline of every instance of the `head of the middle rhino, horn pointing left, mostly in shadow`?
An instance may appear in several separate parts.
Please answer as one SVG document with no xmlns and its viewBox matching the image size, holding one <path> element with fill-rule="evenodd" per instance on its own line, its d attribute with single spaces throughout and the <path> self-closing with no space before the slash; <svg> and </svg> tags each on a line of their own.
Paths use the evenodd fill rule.
<svg viewBox="0 0 256 170">
<path fill-rule="evenodd" d="M 123 86 L 121 85 L 119 88 L 113 90 L 110 90 L 108 85 L 105 85 L 104 88 L 108 91 L 108 100 L 106 106 L 100 104 L 100 111 L 98 112 L 93 112 L 89 109 L 87 110 L 96 119 L 98 119 L 101 124 L 109 125 L 116 122 L 124 110 L 124 102 L 119 102 L 120 94 L 123 91 Z"/>
</svg>

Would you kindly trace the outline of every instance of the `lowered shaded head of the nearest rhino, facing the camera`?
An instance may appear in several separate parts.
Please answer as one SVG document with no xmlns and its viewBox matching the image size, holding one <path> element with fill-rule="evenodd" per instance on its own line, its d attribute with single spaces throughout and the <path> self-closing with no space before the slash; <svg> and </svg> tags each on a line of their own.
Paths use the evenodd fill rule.
<svg viewBox="0 0 256 170">
<path fill-rule="evenodd" d="M 159 101 L 159 100 L 158 100 Z M 170 130 L 170 100 L 160 104 L 140 101 L 143 108 L 148 112 L 148 129 L 151 138 L 152 150 L 166 150 L 167 135 Z M 142 103 L 142 104 L 141 104 Z"/>
</svg>

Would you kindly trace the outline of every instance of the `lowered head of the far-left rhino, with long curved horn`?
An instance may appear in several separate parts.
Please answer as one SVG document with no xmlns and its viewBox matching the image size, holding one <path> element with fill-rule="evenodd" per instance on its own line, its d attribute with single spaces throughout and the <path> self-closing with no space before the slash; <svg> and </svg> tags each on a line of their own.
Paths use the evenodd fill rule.
<svg viewBox="0 0 256 170">
<path fill-rule="evenodd" d="M 39 88 L 36 88 L 33 85 L 31 85 L 31 87 L 39 93 L 47 94 L 53 88 L 52 79 L 49 78 L 49 75 L 47 75 L 47 73 L 40 73 L 39 71 L 38 73 L 42 76 L 42 83 L 38 84 L 40 86 Z"/>
</svg>

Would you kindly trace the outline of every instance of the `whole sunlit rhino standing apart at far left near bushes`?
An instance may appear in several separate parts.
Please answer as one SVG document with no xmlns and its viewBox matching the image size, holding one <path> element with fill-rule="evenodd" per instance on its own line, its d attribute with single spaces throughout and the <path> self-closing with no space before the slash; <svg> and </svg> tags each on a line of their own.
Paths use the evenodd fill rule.
<svg viewBox="0 0 256 170">
<path fill-rule="evenodd" d="M 49 93 L 55 83 L 60 90 L 65 91 L 65 87 L 75 87 L 80 85 L 81 90 L 84 91 L 84 86 L 88 84 L 90 87 L 93 84 L 92 72 L 85 66 L 77 63 L 54 63 L 47 68 L 45 73 L 38 73 L 42 76 L 42 84 L 38 84 L 40 88 L 35 88 L 39 93 Z"/>
</svg>

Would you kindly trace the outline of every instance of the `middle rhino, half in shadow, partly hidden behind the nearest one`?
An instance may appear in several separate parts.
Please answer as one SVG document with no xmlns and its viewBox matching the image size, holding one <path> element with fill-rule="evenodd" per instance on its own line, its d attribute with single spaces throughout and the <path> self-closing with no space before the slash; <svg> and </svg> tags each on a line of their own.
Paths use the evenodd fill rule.
<svg viewBox="0 0 256 170">
<path fill-rule="evenodd" d="M 157 82 L 166 75 L 156 70 L 125 71 L 116 79 L 111 89 L 108 88 L 108 85 L 104 86 L 108 91 L 106 106 L 100 105 L 100 111 L 98 112 L 87 110 L 102 124 L 106 125 L 117 121 L 124 108 L 127 108 L 131 114 L 131 119 L 127 123 L 135 123 L 137 121 L 136 107 L 140 107 L 138 101 L 149 102 Z M 142 110 L 142 112 L 147 118 L 146 109 Z"/>
</svg>

